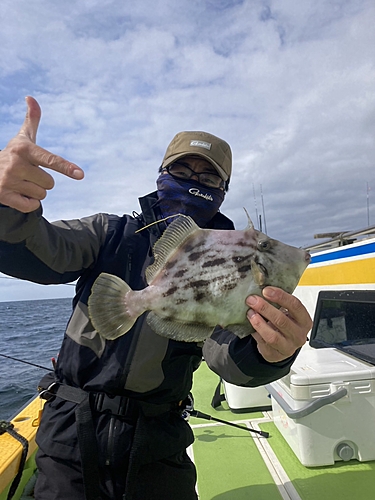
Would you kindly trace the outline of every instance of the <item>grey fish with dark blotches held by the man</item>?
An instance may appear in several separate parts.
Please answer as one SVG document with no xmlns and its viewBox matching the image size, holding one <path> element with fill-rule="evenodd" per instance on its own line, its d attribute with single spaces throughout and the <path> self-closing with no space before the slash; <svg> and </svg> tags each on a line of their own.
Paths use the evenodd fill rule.
<svg viewBox="0 0 375 500">
<path fill-rule="evenodd" d="M 256 230 L 247 217 L 245 229 L 219 230 L 180 215 L 156 241 L 142 290 L 101 273 L 88 300 L 96 331 L 115 340 L 148 311 L 151 329 L 178 341 L 202 342 L 217 326 L 240 338 L 254 333 L 246 297 L 261 296 L 268 285 L 292 293 L 310 255 Z"/>
</svg>

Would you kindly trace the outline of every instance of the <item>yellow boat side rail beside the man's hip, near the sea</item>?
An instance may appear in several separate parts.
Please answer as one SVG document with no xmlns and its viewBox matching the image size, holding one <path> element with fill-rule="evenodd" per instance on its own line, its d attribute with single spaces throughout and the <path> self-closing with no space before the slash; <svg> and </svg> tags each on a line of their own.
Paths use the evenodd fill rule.
<svg viewBox="0 0 375 500">
<path fill-rule="evenodd" d="M 38 429 L 39 415 L 43 401 L 36 397 L 17 416 L 11 420 L 14 430 L 29 442 L 27 458 L 35 452 L 37 445 L 35 435 Z M 0 497 L 8 488 L 18 473 L 22 445 L 10 434 L 5 432 L 0 436 Z"/>
</svg>

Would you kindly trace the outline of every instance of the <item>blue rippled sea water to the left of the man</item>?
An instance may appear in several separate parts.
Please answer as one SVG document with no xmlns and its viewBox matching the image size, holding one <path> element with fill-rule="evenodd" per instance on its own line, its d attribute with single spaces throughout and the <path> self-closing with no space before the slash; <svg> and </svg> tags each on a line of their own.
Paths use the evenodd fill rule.
<svg viewBox="0 0 375 500">
<path fill-rule="evenodd" d="M 0 354 L 52 369 L 71 298 L 0 302 Z M 0 420 L 9 420 L 36 394 L 43 368 L 0 356 Z"/>
</svg>

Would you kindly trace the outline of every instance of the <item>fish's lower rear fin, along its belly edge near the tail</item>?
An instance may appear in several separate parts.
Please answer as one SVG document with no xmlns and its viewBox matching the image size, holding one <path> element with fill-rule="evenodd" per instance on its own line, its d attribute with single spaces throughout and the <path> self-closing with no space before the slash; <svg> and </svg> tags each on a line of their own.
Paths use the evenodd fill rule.
<svg viewBox="0 0 375 500">
<path fill-rule="evenodd" d="M 214 330 L 213 327 L 199 323 L 179 323 L 160 318 L 152 311 L 147 315 L 147 323 L 161 337 L 183 342 L 201 342 L 209 337 Z"/>
</svg>

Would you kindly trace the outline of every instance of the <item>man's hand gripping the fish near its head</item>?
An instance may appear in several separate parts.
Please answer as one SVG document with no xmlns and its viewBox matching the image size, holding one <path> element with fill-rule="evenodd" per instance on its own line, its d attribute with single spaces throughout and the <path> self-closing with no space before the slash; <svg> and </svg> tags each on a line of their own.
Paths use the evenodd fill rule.
<svg viewBox="0 0 375 500">
<path fill-rule="evenodd" d="M 262 297 L 250 295 L 247 317 L 256 330 L 253 337 L 266 361 L 275 363 L 292 356 L 306 342 L 312 320 L 303 304 L 280 288 L 266 287 L 263 296 L 281 307 L 277 309 Z"/>
</svg>

